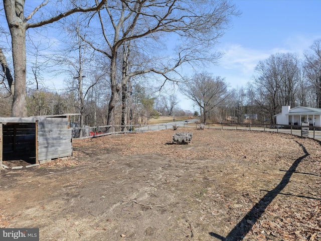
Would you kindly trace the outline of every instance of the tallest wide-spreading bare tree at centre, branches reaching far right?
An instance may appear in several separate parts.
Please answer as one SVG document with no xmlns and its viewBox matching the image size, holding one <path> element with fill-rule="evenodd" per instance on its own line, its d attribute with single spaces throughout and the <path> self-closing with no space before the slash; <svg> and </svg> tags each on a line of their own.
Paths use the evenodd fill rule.
<svg viewBox="0 0 321 241">
<path fill-rule="evenodd" d="M 141 74 L 156 73 L 165 81 L 173 78 L 168 75 L 186 62 L 216 61 L 217 53 L 209 51 L 228 27 L 230 18 L 238 15 L 235 7 L 227 1 L 113 1 L 108 2 L 99 11 L 100 32 L 105 43 L 95 43 L 89 36 L 84 39 L 96 51 L 110 60 L 111 98 L 108 109 L 107 125 L 114 126 L 114 111 L 121 86 L 128 79 Z M 93 26 L 95 23 L 93 23 Z M 99 30 L 97 30 L 99 31 Z M 172 33 L 172 35 L 170 34 Z M 119 48 L 125 43 L 136 41 L 136 51 L 147 51 L 142 41 L 149 47 L 159 46 L 164 36 L 173 36 L 180 40 L 176 48 L 176 58 L 163 58 L 148 54 L 153 61 L 131 62 L 137 68 L 117 79 L 117 56 Z M 175 38 L 174 38 L 175 39 Z M 140 40 L 140 42 L 138 41 Z M 182 41 L 182 42 L 181 42 Z M 139 42 L 139 43 L 138 43 Z M 162 60 L 162 61 L 161 61 Z M 113 131 L 111 128 L 109 131 Z"/>
</svg>

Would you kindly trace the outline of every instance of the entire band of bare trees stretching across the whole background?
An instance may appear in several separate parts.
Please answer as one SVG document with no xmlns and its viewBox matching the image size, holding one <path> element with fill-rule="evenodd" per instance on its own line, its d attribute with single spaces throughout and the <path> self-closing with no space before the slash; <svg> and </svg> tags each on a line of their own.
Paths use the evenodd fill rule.
<svg viewBox="0 0 321 241">
<path fill-rule="evenodd" d="M 229 1 L 38 2 L 0 6 L 8 23 L 0 27 L 7 39 L 0 45 L 2 116 L 76 112 L 80 126 L 104 124 L 113 132 L 161 114 L 200 115 L 203 123 L 241 123 L 248 114 L 273 124 L 282 105 L 321 105 L 321 40 L 303 57 L 277 53 L 259 61 L 239 89 L 208 72 L 182 74 L 219 60 L 215 44 L 239 15 Z M 51 32 L 61 37 L 59 48 L 43 34 Z M 63 88 L 43 86 L 48 72 L 67 76 Z M 178 108 L 176 88 L 193 101 L 194 113 Z"/>
</svg>

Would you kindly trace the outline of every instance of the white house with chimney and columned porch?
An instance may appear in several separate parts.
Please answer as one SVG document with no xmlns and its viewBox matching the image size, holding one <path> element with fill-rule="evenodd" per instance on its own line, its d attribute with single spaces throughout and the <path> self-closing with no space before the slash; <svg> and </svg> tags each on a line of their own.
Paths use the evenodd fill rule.
<svg viewBox="0 0 321 241">
<path fill-rule="evenodd" d="M 282 106 L 282 112 L 274 115 L 277 125 L 298 125 L 308 123 L 310 126 L 321 127 L 321 108 Z"/>
</svg>

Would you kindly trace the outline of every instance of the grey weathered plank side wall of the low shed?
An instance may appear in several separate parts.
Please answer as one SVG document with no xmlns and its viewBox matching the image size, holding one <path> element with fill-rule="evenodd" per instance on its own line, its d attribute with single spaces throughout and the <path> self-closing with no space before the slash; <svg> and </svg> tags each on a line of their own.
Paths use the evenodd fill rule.
<svg viewBox="0 0 321 241">
<path fill-rule="evenodd" d="M 68 118 L 43 118 L 37 123 L 38 161 L 72 155 Z"/>
</svg>

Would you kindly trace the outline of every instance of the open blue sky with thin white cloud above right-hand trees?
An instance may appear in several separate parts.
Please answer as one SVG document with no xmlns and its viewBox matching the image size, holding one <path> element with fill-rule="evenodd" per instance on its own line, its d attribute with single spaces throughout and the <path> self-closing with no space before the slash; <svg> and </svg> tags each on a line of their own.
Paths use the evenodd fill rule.
<svg viewBox="0 0 321 241">
<path fill-rule="evenodd" d="M 260 60 L 275 53 L 297 53 L 302 57 L 313 41 L 321 38 L 321 1 L 235 0 L 241 16 L 232 20 L 214 49 L 224 53 L 218 65 L 207 72 L 225 77 L 232 88 L 252 81 Z M 182 98 L 182 100 L 184 97 Z M 191 109 L 190 101 L 182 101 Z M 193 108 L 192 108 L 193 110 Z"/>
</svg>

